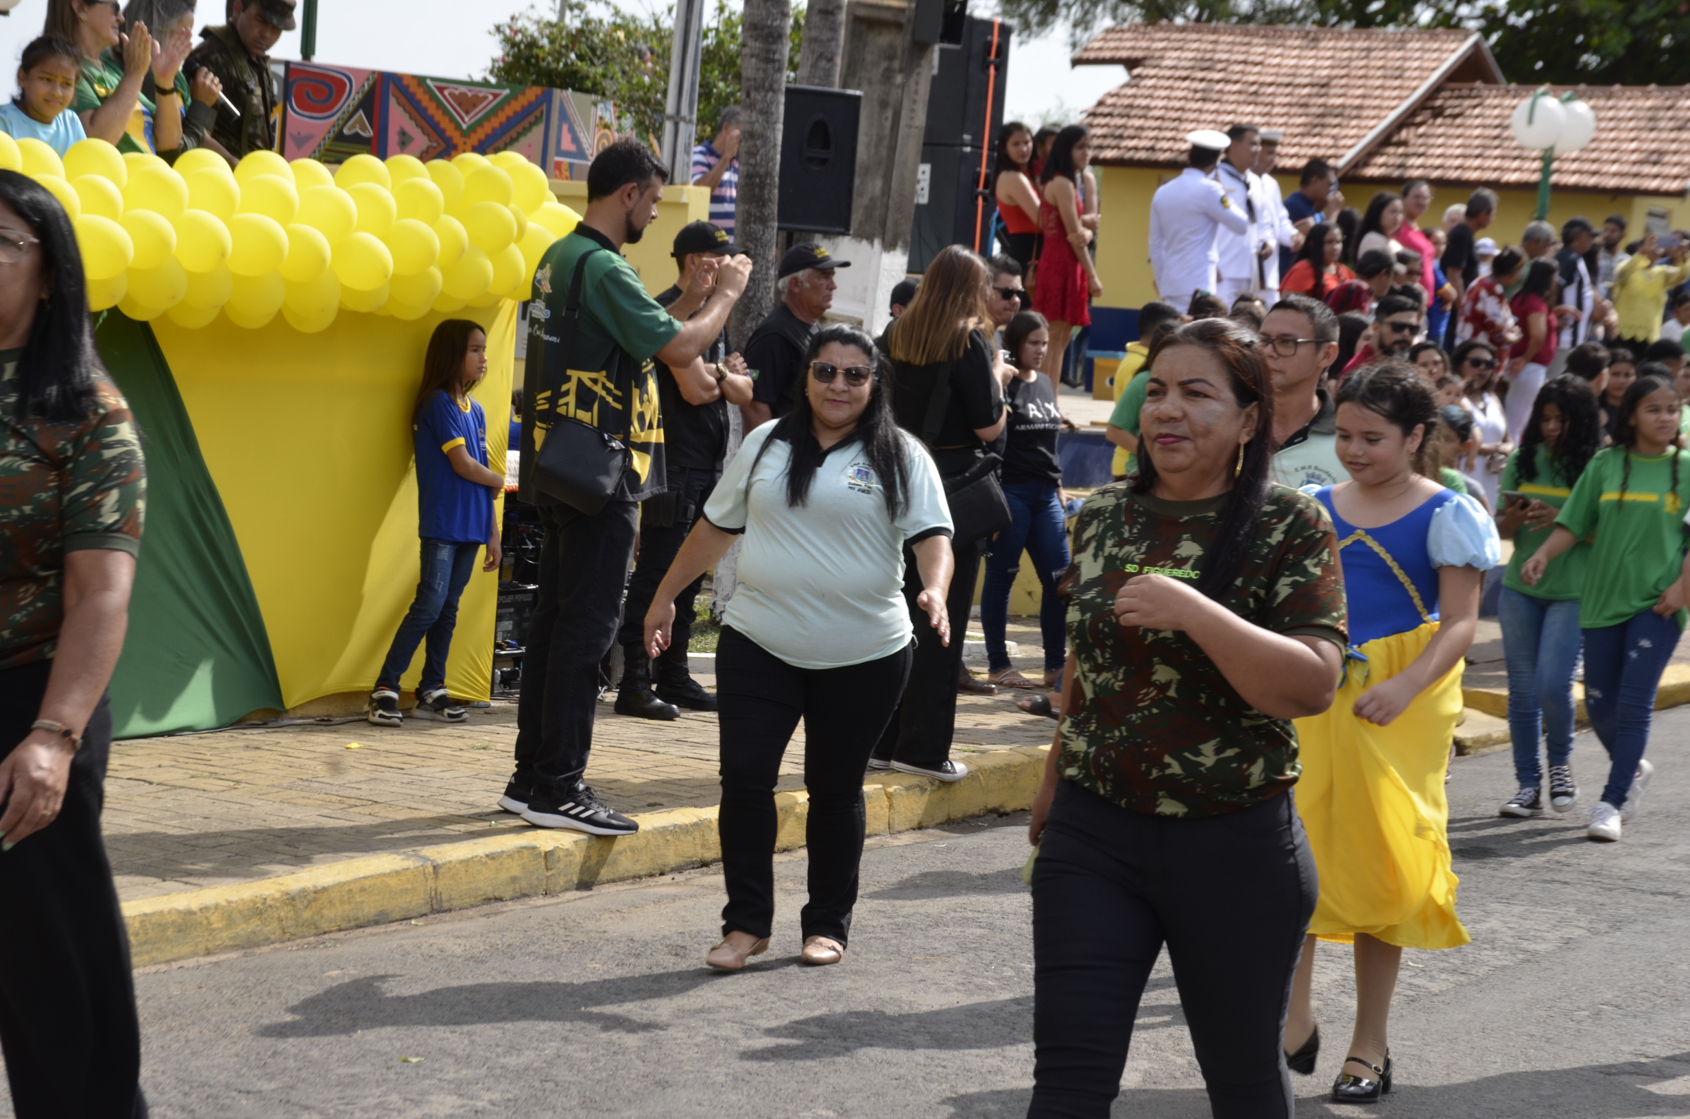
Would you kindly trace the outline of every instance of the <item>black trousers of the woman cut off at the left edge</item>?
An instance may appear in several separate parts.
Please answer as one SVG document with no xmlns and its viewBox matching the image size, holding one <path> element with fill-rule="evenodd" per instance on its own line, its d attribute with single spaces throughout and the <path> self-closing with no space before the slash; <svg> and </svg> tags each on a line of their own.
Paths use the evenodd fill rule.
<svg viewBox="0 0 1690 1119">
<path fill-rule="evenodd" d="M 51 668 L 0 671 L 0 756 L 39 718 Z M 110 754 L 101 700 L 59 818 L 0 854 L 0 1048 L 17 1119 L 147 1114 L 128 933 L 100 837 Z"/>
</svg>

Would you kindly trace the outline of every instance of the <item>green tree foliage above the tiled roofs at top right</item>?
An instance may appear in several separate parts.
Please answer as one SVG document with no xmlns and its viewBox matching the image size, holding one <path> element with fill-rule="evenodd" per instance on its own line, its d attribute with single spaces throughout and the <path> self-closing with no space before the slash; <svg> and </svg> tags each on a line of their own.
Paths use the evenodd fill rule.
<svg viewBox="0 0 1690 1119">
<path fill-rule="evenodd" d="M 1159 20 L 1315 27 L 1467 27 L 1509 81 L 1690 83 L 1690 0 L 1000 0 L 1024 34 Z"/>
</svg>

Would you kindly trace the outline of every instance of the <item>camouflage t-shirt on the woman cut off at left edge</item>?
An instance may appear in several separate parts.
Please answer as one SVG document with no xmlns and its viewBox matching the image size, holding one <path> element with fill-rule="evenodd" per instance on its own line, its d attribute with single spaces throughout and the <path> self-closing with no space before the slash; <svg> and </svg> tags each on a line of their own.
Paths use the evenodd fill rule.
<svg viewBox="0 0 1690 1119">
<path fill-rule="evenodd" d="M 52 658 L 64 554 L 137 554 L 147 504 L 135 421 L 117 385 L 100 374 L 86 419 L 22 419 L 17 358 L 0 352 L 0 669 Z"/>
</svg>

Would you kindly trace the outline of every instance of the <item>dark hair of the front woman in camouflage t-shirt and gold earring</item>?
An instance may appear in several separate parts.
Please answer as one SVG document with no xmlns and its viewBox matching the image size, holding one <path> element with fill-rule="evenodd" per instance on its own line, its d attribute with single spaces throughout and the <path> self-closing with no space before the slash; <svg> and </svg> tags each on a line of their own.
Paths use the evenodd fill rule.
<svg viewBox="0 0 1690 1119">
<path fill-rule="evenodd" d="M 1173 347 L 1198 347 L 1220 358 L 1232 380 L 1232 396 L 1239 407 L 1256 406 L 1256 434 L 1244 445 L 1239 473 L 1227 507 L 1220 514 L 1215 539 L 1205 551 L 1203 571 L 1197 576 L 1197 590 L 1210 598 L 1220 595 L 1239 580 L 1244 551 L 1256 534 L 1268 490 L 1273 487 L 1273 382 L 1261 338 L 1227 319 L 1200 319 L 1186 323 L 1161 338 L 1151 350 L 1149 365 Z M 1156 456 L 1149 443 L 1139 445 L 1139 473 L 1132 480 L 1134 494 L 1148 494 L 1156 485 Z"/>
</svg>

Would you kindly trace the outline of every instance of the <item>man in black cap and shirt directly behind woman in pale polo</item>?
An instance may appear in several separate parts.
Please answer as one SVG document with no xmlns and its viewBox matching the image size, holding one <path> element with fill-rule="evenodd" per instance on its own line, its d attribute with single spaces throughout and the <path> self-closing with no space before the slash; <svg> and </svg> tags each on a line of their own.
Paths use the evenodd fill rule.
<svg viewBox="0 0 1690 1119">
<path fill-rule="evenodd" d="M 776 292 L 781 303 L 745 340 L 745 363 L 750 367 L 752 401 L 740 409 L 750 434 L 771 419 L 793 411 L 793 385 L 804 365 L 810 336 L 816 323 L 833 306 L 833 269 L 848 269 L 850 260 L 835 260 L 815 242 L 799 242 L 781 257 Z"/>
</svg>

